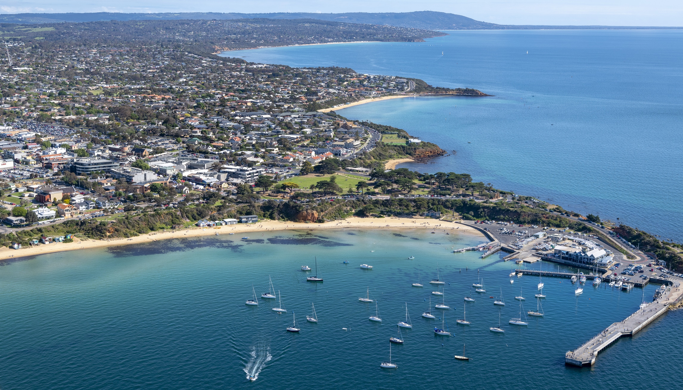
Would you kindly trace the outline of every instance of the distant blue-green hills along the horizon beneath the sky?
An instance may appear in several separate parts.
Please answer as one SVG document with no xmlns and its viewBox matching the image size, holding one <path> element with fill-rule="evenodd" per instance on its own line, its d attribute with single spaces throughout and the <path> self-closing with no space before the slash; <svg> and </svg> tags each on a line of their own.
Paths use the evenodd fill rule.
<svg viewBox="0 0 683 390">
<path fill-rule="evenodd" d="M 104 20 L 186 20 L 186 19 L 317 19 L 333 22 L 389 25 L 429 30 L 477 30 L 477 29 L 683 29 L 683 27 L 645 26 L 550 26 L 550 25 L 497 25 L 480 22 L 462 15 L 445 12 L 348 12 L 345 14 L 316 14 L 311 12 L 277 12 L 270 14 L 237 14 L 221 12 L 163 12 L 156 14 L 123 14 L 115 12 L 92 12 L 87 14 L 0 14 L 0 23 L 81 23 Z"/>
</svg>

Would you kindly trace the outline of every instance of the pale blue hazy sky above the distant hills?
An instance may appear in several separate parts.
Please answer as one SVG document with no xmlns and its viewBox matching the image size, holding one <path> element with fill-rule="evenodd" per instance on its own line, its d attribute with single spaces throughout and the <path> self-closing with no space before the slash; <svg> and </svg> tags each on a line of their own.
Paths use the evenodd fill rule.
<svg viewBox="0 0 683 390">
<path fill-rule="evenodd" d="M 451 12 L 514 25 L 681 26 L 682 0 L 0 0 L 21 12 Z"/>
</svg>

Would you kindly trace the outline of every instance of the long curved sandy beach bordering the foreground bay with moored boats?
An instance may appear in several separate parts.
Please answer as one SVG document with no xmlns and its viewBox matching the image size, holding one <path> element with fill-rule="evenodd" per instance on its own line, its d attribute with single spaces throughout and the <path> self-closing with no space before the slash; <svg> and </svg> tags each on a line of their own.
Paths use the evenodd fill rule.
<svg viewBox="0 0 683 390">
<path fill-rule="evenodd" d="M 262 221 L 259 223 L 238 223 L 236 225 L 225 225 L 219 228 L 208 227 L 202 229 L 200 227 L 192 227 L 189 229 L 177 229 L 167 232 L 151 232 L 150 234 L 142 234 L 141 236 L 131 238 L 120 238 L 112 240 L 92 240 L 75 238 L 74 242 L 53 242 L 51 244 L 40 244 L 36 247 L 9 249 L 2 247 L 0 249 L 0 260 L 27 257 L 34 255 L 44 255 L 46 253 L 55 253 L 62 251 L 76 251 L 79 249 L 91 249 L 101 247 L 114 247 L 117 245 L 141 244 L 143 242 L 152 242 L 158 240 L 168 240 L 169 238 L 192 238 L 199 236 L 215 236 L 234 233 L 234 239 L 240 240 L 243 236 L 249 236 L 255 232 L 265 232 L 268 230 L 292 230 L 292 229 L 339 229 L 342 227 L 364 227 L 364 228 L 423 228 L 423 229 L 449 229 L 458 230 L 460 232 L 467 232 L 470 234 L 479 234 L 475 229 L 460 225 L 458 223 L 449 223 L 438 221 L 436 219 L 413 219 L 413 218 L 357 218 L 352 217 L 344 221 L 332 221 L 326 223 L 296 223 L 289 221 Z"/>
</svg>

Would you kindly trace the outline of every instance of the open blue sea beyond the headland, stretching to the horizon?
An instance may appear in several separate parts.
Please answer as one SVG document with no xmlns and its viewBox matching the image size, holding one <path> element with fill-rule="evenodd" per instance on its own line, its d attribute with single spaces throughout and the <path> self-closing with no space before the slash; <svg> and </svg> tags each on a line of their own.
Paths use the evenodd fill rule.
<svg viewBox="0 0 683 390">
<path fill-rule="evenodd" d="M 400 167 L 470 173 L 567 210 L 683 239 L 683 31 L 447 32 L 421 43 L 225 55 L 480 89 L 494 96 L 393 99 L 338 113 L 404 128 L 451 152 Z"/>
</svg>

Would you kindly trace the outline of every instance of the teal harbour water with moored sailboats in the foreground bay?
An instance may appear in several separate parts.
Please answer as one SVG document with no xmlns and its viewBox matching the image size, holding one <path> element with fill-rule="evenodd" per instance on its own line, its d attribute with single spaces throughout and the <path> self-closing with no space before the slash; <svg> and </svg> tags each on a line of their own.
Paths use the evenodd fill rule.
<svg viewBox="0 0 683 390">
<path fill-rule="evenodd" d="M 574 296 L 568 279 L 546 278 L 546 316 L 529 326 L 507 324 L 519 311 L 514 296 L 535 309 L 538 279 L 510 284 L 514 266 L 502 255 L 451 253 L 484 238 L 443 229 L 337 229 L 252 233 L 251 239 L 210 236 L 145 245 L 41 255 L 0 267 L 0 387 L 2 389 L 326 389 L 439 387 L 472 389 L 587 389 L 629 387 L 632 380 L 680 388 L 682 311 L 674 311 L 632 339 L 600 354 L 591 368 L 566 367 L 564 353 L 638 308 L 643 293 L 585 286 Z M 410 255 L 415 260 L 408 260 Z M 323 283 L 308 283 L 301 266 L 318 261 Z M 349 264 L 342 264 L 348 260 Z M 359 264 L 371 264 L 363 270 Z M 556 264 L 534 264 L 544 269 Z M 439 301 L 427 283 L 446 281 L 451 309 L 439 318 L 453 333 L 435 336 L 441 320 L 421 313 Z M 487 290 L 470 291 L 477 270 Z M 419 273 L 419 276 L 418 276 Z M 281 293 L 245 305 L 252 286 L 260 296 L 268 277 Z M 411 283 L 421 279 L 423 288 Z M 648 285 L 644 296 L 652 296 Z M 381 323 L 360 303 L 370 289 Z M 505 307 L 489 296 L 502 292 Z M 463 296 L 471 326 L 462 318 Z M 315 303 L 318 324 L 305 321 Z M 397 370 L 382 370 L 389 337 L 408 305 L 413 329 L 392 347 Z M 285 328 L 296 314 L 301 333 Z M 492 333 L 499 313 L 505 333 Z M 343 331 L 342 328 L 347 328 Z M 463 344 L 471 361 L 454 359 Z M 652 367 L 656 366 L 656 370 Z M 247 380 L 247 372 L 257 375 Z M 645 387 L 650 387 L 649 385 Z M 654 387 L 654 385 L 652 385 Z"/>
</svg>

